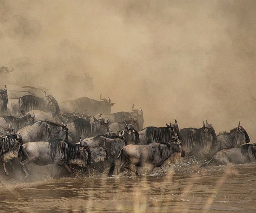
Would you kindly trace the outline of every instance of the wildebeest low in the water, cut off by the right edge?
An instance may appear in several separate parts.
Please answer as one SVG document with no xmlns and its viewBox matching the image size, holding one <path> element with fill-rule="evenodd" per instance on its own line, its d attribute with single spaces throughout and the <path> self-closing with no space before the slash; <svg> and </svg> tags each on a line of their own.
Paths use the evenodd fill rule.
<svg viewBox="0 0 256 213">
<path fill-rule="evenodd" d="M 238 148 L 221 150 L 202 166 L 219 166 L 228 164 L 246 164 L 256 162 L 256 144 L 244 144 Z"/>
</svg>

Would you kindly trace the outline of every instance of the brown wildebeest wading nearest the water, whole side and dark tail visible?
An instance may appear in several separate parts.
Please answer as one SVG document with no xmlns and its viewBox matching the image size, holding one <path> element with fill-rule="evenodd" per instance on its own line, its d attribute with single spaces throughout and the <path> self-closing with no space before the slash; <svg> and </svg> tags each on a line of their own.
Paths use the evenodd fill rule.
<svg viewBox="0 0 256 213">
<path fill-rule="evenodd" d="M 177 138 L 175 141 L 177 141 Z M 184 155 L 180 144 L 174 141 L 162 144 L 129 144 L 120 150 L 117 159 L 113 161 L 113 164 L 111 165 L 108 176 L 113 175 L 114 171 L 115 174 L 118 174 L 122 167 L 125 167 L 138 175 L 137 171 L 130 168 L 131 165 L 147 167 L 148 174 L 151 174 L 155 167 L 160 167 L 163 172 L 165 172 L 163 163 L 174 153 L 182 153 L 182 155 Z"/>
</svg>

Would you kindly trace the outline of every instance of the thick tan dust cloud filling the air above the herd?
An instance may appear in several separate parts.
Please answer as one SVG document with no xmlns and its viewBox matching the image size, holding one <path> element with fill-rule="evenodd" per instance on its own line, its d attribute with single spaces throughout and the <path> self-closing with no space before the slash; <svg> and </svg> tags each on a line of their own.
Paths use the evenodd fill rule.
<svg viewBox="0 0 256 213">
<path fill-rule="evenodd" d="M 145 126 L 241 121 L 255 142 L 255 1 L 0 1 L 5 84 L 47 86 L 58 101 L 99 94 Z"/>
</svg>

